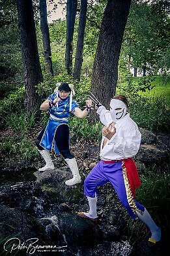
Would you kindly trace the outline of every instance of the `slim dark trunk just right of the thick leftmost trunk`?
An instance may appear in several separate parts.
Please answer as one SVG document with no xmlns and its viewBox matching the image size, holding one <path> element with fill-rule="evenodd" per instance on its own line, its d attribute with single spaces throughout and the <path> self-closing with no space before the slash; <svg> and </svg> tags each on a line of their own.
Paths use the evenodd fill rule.
<svg viewBox="0 0 170 256">
<path fill-rule="evenodd" d="M 40 27 L 42 31 L 42 40 L 44 48 L 44 60 L 46 62 L 47 73 L 53 74 L 52 60 L 51 60 L 51 46 L 50 34 L 47 20 L 47 4 L 46 0 L 40 0 Z"/>
</svg>

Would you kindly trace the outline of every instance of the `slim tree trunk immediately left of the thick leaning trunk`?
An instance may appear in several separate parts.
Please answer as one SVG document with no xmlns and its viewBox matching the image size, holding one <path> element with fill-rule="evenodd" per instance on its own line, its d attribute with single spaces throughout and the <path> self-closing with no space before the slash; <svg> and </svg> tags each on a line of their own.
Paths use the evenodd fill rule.
<svg viewBox="0 0 170 256">
<path fill-rule="evenodd" d="M 86 14 L 87 14 L 87 0 L 81 0 L 81 10 L 79 14 L 78 43 L 76 48 L 76 58 L 75 58 L 74 73 L 73 73 L 73 78 L 78 81 L 80 79 L 81 66 L 83 63 L 83 47 L 84 47 L 84 37 L 85 37 Z"/>
</svg>

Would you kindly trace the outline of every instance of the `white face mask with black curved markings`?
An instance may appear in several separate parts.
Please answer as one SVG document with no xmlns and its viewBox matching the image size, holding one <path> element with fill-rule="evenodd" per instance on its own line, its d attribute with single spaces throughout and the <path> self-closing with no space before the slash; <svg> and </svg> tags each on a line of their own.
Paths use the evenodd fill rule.
<svg viewBox="0 0 170 256">
<path fill-rule="evenodd" d="M 126 105 L 121 100 L 110 101 L 110 113 L 113 122 L 117 122 L 126 115 Z"/>
</svg>

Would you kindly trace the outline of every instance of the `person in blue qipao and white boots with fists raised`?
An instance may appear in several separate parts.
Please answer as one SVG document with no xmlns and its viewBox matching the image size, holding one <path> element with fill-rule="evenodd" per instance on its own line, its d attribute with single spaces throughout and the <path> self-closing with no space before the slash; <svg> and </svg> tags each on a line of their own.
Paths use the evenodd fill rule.
<svg viewBox="0 0 170 256">
<path fill-rule="evenodd" d="M 38 171 L 44 172 L 46 170 L 55 169 L 50 156 L 50 152 L 54 147 L 57 155 L 59 155 L 59 153 L 63 155 L 64 160 L 72 172 L 72 179 L 65 182 L 68 186 L 81 182 L 76 159 L 74 155 L 70 153 L 68 117 L 70 117 L 71 113 L 74 113 L 78 118 L 87 117 L 92 106 L 92 101 L 87 100 L 86 108 L 81 111 L 76 101 L 72 99 L 73 95 L 73 84 L 66 82 L 63 84 L 57 83 L 55 92 L 40 106 L 42 111 L 49 111 L 50 119 L 46 127 L 44 127 L 38 137 L 36 137 L 36 146 L 38 147 L 40 155 L 42 155 L 42 158 L 44 158 L 46 162 L 46 165 L 38 169 Z"/>
</svg>

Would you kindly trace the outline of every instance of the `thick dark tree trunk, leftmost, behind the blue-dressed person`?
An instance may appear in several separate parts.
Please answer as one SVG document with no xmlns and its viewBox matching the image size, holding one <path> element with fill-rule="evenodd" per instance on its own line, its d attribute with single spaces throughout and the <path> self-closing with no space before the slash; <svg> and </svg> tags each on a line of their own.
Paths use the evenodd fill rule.
<svg viewBox="0 0 170 256">
<path fill-rule="evenodd" d="M 35 86 L 43 81 L 43 77 L 38 56 L 32 1 L 17 0 L 17 9 L 25 79 L 25 109 L 29 115 L 33 110 L 40 108 L 40 96 L 36 93 Z"/>
</svg>

